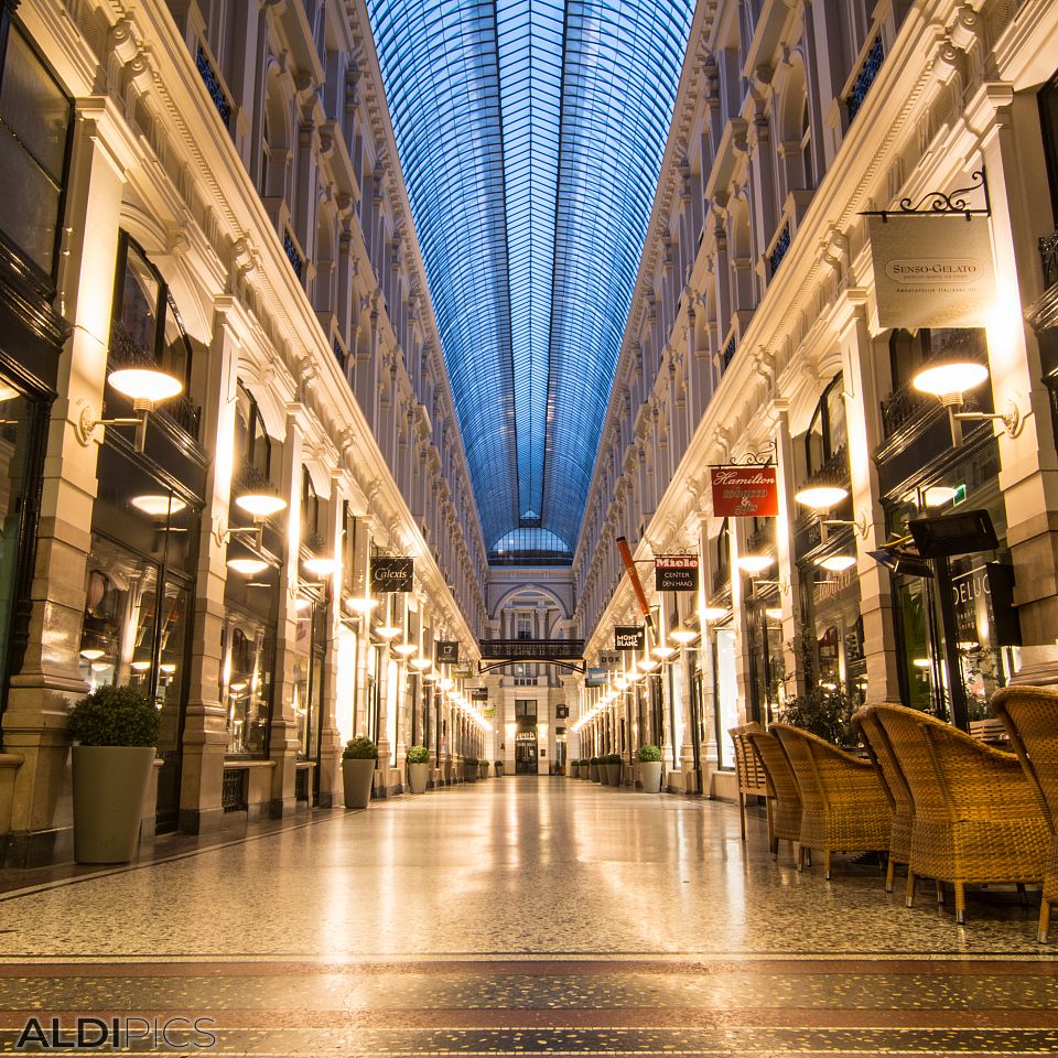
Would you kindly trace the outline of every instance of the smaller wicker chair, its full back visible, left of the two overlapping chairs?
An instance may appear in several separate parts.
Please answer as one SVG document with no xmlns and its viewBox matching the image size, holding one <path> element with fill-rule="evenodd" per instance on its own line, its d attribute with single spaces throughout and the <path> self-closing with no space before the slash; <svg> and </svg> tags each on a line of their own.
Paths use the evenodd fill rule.
<svg viewBox="0 0 1058 1058">
<path fill-rule="evenodd" d="M 889 848 L 893 812 L 870 760 L 789 724 L 773 724 L 771 733 L 786 752 L 801 791 L 801 860 L 806 845 L 821 849 L 829 879 L 832 852 Z"/>
</svg>

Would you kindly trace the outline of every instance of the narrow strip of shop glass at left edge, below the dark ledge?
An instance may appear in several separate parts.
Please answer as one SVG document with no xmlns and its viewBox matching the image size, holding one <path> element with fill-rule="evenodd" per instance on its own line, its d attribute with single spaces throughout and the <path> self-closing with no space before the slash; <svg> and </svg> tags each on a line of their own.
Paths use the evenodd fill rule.
<svg viewBox="0 0 1058 1058">
<path fill-rule="evenodd" d="M 0 683 L 7 676 L 8 636 L 15 605 L 22 511 L 36 467 L 29 465 L 36 429 L 32 406 L 0 379 Z M 31 479 L 28 479 L 31 478 Z"/>
</svg>

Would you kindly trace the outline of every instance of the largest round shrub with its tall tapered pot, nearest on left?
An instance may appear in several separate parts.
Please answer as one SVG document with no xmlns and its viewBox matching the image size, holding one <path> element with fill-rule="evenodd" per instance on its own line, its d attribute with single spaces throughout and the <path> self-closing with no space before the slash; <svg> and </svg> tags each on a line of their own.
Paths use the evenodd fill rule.
<svg viewBox="0 0 1058 1058">
<path fill-rule="evenodd" d="M 97 688 L 71 710 L 78 863 L 128 863 L 136 855 L 158 725 L 158 709 L 134 687 Z"/>
</svg>

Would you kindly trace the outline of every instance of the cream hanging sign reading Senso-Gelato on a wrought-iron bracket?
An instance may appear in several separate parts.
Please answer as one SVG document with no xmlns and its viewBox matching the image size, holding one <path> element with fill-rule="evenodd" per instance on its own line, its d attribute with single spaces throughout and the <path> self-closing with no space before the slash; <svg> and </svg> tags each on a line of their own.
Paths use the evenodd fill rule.
<svg viewBox="0 0 1058 1058">
<path fill-rule="evenodd" d="M 995 301 L 987 217 L 868 217 L 881 327 L 981 327 Z"/>
</svg>

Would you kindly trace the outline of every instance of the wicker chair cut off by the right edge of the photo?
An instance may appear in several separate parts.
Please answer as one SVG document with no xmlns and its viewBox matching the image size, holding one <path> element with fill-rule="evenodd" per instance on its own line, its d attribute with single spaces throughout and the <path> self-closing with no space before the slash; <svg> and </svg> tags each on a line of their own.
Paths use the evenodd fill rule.
<svg viewBox="0 0 1058 1058">
<path fill-rule="evenodd" d="M 1058 904 L 1058 691 L 1007 687 L 993 695 L 992 712 L 1003 721 L 1050 828 L 1050 855 L 1039 905 L 1039 942 L 1044 944 L 1050 905 Z"/>
</svg>

